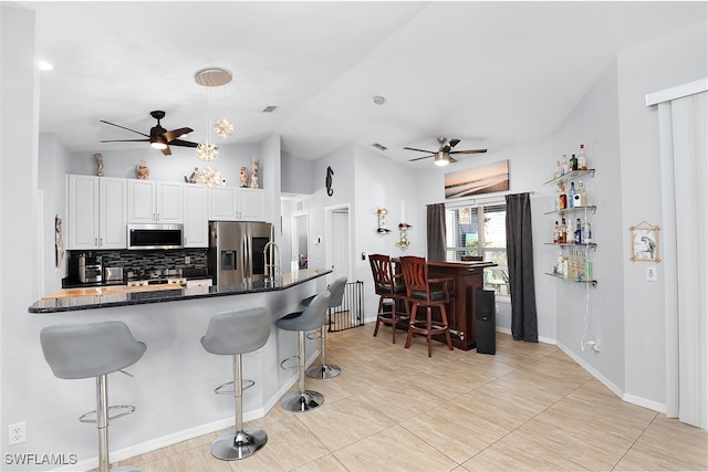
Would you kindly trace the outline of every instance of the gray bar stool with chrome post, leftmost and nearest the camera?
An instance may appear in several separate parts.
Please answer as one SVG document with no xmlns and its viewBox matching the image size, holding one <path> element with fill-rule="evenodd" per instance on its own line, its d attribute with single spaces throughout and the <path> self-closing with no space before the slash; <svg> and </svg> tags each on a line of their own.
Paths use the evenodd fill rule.
<svg viewBox="0 0 708 472">
<path fill-rule="evenodd" d="M 54 376 L 65 379 L 96 378 L 96 410 L 82 415 L 79 420 L 96 423 L 98 471 L 107 472 L 111 466 L 108 422 L 135 411 L 135 407 L 127 405 L 108 407 L 108 374 L 116 370 L 127 374 L 123 369 L 143 357 L 145 343 L 136 340 L 123 322 L 48 326 L 40 332 L 40 343 Z M 115 410 L 118 412 L 110 416 L 110 411 Z M 96 419 L 90 419 L 94 413 Z M 139 472 L 139 469 L 132 466 L 112 470 Z"/>
</svg>

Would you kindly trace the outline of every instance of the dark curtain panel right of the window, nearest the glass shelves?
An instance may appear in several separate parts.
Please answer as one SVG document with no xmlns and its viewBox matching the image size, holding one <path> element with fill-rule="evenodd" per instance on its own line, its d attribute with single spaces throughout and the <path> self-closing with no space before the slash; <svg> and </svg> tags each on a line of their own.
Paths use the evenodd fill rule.
<svg viewBox="0 0 708 472">
<path fill-rule="evenodd" d="M 507 196 L 507 256 L 511 292 L 511 335 L 517 340 L 538 343 L 529 193 Z"/>
</svg>

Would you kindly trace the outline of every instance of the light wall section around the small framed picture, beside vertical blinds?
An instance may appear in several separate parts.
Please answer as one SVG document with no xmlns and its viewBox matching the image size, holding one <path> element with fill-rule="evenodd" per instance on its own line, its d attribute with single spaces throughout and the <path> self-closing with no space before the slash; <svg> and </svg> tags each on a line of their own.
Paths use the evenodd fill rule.
<svg viewBox="0 0 708 472">
<path fill-rule="evenodd" d="M 658 282 L 646 282 L 648 263 L 631 262 L 628 228 L 642 221 L 664 225 L 659 175 L 657 107 L 646 106 L 648 93 L 708 76 L 708 28 L 694 28 L 658 39 L 618 55 L 622 167 L 622 258 L 625 317 L 625 397 L 666 403 L 664 264 L 655 264 Z M 659 231 L 659 256 L 662 254 Z M 708 340 L 706 340 L 708 343 Z"/>
</svg>

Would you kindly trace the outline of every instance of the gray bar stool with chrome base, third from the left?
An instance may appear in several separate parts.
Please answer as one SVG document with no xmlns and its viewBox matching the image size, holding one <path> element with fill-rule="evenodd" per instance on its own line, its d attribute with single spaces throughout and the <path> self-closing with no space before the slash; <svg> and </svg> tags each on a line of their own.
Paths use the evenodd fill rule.
<svg viewBox="0 0 708 472">
<path fill-rule="evenodd" d="M 304 312 L 291 313 L 275 322 L 275 326 L 280 329 L 298 332 L 300 390 L 285 396 L 280 402 L 289 411 L 310 411 L 324 403 L 322 394 L 305 390 L 305 332 L 322 328 L 331 296 L 330 292 L 325 290 L 314 297 Z M 281 366 L 287 361 L 288 359 L 283 360 Z"/>
</svg>

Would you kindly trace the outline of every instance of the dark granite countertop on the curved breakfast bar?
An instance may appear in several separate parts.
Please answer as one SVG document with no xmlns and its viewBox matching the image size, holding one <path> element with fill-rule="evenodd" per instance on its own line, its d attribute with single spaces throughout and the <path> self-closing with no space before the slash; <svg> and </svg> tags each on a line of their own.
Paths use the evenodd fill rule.
<svg viewBox="0 0 708 472">
<path fill-rule="evenodd" d="M 251 282 L 231 286 L 196 286 L 149 291 L 133 290 L 129 292 L 101 293 L 82 296 L 44 297 L 29 308 L 29 313 L 61 313 L 80 310 L 105 308 L 110 306 L 140 305 L 147 303 L 175 302 L 212 296 L 241 295 L 248 293 L 274 292 L 321 277 L 331 273 L 327 269 L 304 269 L 295 273 L 287 273 L 274 282 Z M 171 290 L 170 290 L 171 289 Z"/>
</svg>

